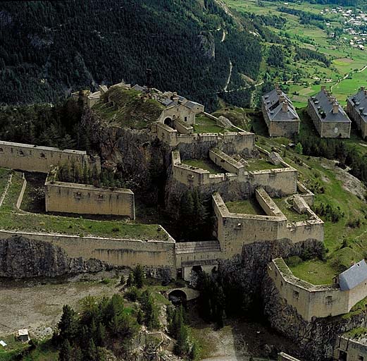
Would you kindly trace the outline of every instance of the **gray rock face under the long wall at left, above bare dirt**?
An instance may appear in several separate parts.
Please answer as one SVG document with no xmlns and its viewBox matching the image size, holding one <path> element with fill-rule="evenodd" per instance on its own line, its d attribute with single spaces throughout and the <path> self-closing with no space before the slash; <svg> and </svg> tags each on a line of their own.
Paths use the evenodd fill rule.
<svg viewBox="0 0 367 361">
<path fill-rule="evenodd" d="M 60 247 L 15 235 L 0 240 L 0 277 L 56 277 L 111 269 L 98 259 L 69 258 Z"/>
</svg>

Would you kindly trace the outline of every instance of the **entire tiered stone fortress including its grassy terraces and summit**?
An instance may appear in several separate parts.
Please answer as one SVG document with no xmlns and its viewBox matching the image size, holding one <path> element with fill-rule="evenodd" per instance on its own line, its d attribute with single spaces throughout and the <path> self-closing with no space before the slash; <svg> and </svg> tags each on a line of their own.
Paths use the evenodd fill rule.
<svg viewBox="0 0 367 361">
<path fill-rule="evenodd" d="M 197 269 L 210 274 L 240 260 L 252 291 L 262 290 L 272 310 L 289 307 L 303 331 L 320 319 L 347 314 L 367 296 L 364 261 L 326 286 L 293 276 L 282 257 L 318 252 L 324 224 L 312 210 L 313 192 L 299 181 L 297 169 L 278 152 L 256 145 L 254 133 L 206 113 L 203 105 L 175 92 L 122 82 L 73 97 L 85 104 L 99 154 L 1 141 L 0 239 L 22 235 L 61 247 L 69 257 L 125 267 L 144 264 L 153 276 L 185 281 Z M 177 212 L 188 190 L 210 197 L 211 240 L 178 242 L 163 226 L 137 221 L 131 189 L 63 178 L 65 164 L 97 177 L 101 168 L 118 164 L 139 178 L 147 159 L 156 154 L 163 159 L 159 166 L 166 174 L 168 211 Z M 48 173 L 44 214 L 22 209 L 24 171 Z M 87 216 L 75 220 L 73 213 Z M 91 214 L 120 219 L 89 219 Z M 259 275 L 264 288 L 254 286 Z M 289 333 L 289 325 L 281 326 L 270 310 L 268 314 L 275 328 Z M 358 325 L 344 325 L 342 331 Z"/>
</svg>

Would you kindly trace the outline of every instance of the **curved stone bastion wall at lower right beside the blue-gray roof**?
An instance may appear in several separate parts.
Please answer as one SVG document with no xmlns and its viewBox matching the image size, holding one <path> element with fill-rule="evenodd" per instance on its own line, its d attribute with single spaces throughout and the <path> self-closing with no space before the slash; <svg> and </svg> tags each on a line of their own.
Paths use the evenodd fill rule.
<svg viewBox="0 0 367 361">
<path fill-rule="evenodd" d="M 281 258 L 270 262 L 268 275 L 275 283 L 280 296 L 308 322 L 313 321 L 315 317 L 346 314 L 367 294 L 365 282 L 352 290 L 342 291 L 337 284 L 315 286 L 297 279 Z"/>
</svg>

